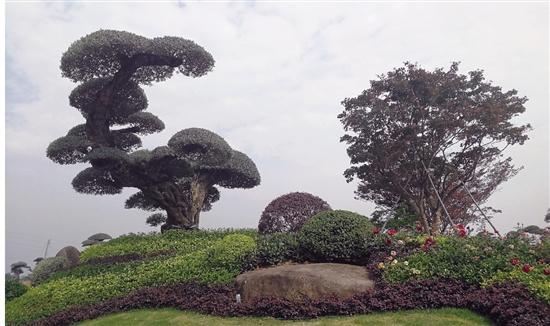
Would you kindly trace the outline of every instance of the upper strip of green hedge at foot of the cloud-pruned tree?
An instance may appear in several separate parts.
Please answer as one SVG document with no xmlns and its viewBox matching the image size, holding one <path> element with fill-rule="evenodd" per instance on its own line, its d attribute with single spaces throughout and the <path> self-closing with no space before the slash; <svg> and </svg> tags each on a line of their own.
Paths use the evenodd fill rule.
<svg viewBox="0 0 550 326">
<path fill-rule="evenodd" d="M 207 243 L 221 239 L 228 234 L 239 233 L 255 236 L 255 230 L 170 230 L 163 234 L 129 234 L 88 247 L 80 255 L 82 262 L 93 258 L 112 257 L 127 254 L 147 255 L 156 252 L 174 252 L 186 254 L 200 248 Z"/>
</svg>

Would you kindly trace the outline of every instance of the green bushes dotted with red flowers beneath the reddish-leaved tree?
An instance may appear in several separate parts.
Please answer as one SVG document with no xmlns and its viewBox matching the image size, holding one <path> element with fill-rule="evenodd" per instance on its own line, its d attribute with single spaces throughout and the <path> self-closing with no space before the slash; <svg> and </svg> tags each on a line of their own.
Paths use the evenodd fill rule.
<svg viewBox="0 0 550 326">
<path fill-rule="evenodd" d="M 405 282 L 410 279 L 451 278 L 469 283 L 482 283 L 499 271 L 512 269 L 511 259 L 535 263 L 537 256 L 521 239 L 500 240 L 487 236 L 470 238 L 436 237 L 436 244 L 387 264 L 384 279 Z M 419 243 L 423 243 L 419 237 Z"/>
</svg>

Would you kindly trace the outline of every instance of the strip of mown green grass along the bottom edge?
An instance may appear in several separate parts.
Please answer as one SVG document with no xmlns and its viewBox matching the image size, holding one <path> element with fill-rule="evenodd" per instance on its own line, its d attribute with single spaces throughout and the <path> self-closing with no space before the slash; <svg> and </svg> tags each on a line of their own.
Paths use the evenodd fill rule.
<svg viewBox="0 0 550 326">
<path fill-rule="evenodd" d="M 393 325 L 393 326 L 449 326 L 492 325 L 489 319 L 464 309 L 428 309 L 372 313 L 352 317 L 323 317 L 306 321 L 282 321 L 273 318 L 220 318 L 176 309 L 143 309 L 117 313 L 89 320 L 79 325 L 188 325 L 188 326 L 247 326 L 247 325 Z"/>
</svg>

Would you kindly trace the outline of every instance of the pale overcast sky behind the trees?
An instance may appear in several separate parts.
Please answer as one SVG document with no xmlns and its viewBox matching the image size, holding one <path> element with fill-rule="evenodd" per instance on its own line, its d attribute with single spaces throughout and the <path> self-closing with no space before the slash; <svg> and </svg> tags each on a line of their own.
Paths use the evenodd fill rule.
<svg viewBox="0 0 550 326">
<path fill-rule="evenodd" d="M 547 3 L 8 3 L 6 5 L 6 265 L 80 247 L 89 235 L 149 232 L 147 212 L 124 209 L 135 189 L 115 196 L 76 193 L 86 165 L 50 161 L 46 147 L 84 119 L 69 106 L 76 84 L 61 77 L 69 45 L 99 29 L 145 37 L 178 36 L 209 51 L 216 64 L 201 78 L 174 75 L 146 86 L 148 111 L 166 129 L 143 137 L 165 145 L 177 131 L 210 129 L 250 156 L 260 186 L 221 190 L 201 214 L 202 228 L 255 228 L 264 207 L 292 191 L 320 196 L 334 209 L 369 215 L 356 200 L 340 102 L 404 61 L 460 72 L 483 69 L 504 90 L 527 96 L 517 124 L 530 140 L 507 149 L 524 169 L 486 203 L 502 210 L 501 231 L 544 225 L 549 207 Z"/>
</svg>

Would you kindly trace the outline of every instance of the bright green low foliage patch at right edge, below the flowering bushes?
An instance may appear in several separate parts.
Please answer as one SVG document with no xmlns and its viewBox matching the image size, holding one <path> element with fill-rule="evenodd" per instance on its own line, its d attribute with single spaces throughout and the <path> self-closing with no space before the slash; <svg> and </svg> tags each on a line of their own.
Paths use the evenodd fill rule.
<svg viewBox="0 0 550 326">
<path fill-rule="evenodd" d="M 525 285 L 534 295 L 550 304 L 550 275 L 544 274 L 544 269 L 550 268 L 548 264 L 533 266 L 533 269 L 526 273 L 518 266 L 511 271 L 498 272 L 492 278 L 483 283 L 484 286 L 504 281 L 516 281 Z"/>
</svg>

